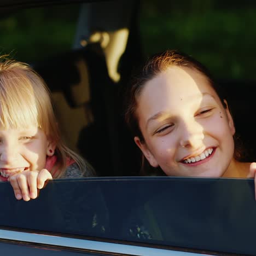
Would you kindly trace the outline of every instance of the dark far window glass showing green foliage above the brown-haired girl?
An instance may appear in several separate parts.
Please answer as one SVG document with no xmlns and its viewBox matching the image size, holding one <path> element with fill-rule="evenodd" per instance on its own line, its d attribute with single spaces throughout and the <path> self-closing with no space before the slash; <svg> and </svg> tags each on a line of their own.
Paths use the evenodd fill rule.
<svg viewBox="0 0 256 256">
<path fill-rule="evenodd" d="M 141 35 L 147 55 L 179 49 L 218 78 L 256 79 L 256 3 L 143 0 Z"/>
</svg>

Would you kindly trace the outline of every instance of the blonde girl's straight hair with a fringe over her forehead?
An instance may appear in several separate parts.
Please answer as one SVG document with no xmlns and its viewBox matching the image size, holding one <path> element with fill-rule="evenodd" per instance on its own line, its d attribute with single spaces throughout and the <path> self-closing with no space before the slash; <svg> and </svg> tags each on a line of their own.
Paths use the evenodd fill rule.
<svg viewBox="0 0 256 256">
<path fill-rule="evenodd" d="M 66 171 L 67 159 L 73 159 L 80 170 L 86 170 L 82 157 L 61 140 L 51 103 L 50 91 L 44 80 L 26 63 L 0 57 L 0 126 L 4 129 L 37 126 L 49 141 L 56 144 L 57 170 L 53 178 Z"/>
</svg>

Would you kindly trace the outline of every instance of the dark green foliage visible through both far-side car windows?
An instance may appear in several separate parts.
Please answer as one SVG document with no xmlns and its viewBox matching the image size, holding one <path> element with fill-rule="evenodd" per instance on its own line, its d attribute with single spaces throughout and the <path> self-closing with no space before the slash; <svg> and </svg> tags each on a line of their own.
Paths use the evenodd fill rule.
<svg viewBox="0 0 256 256">
<path fill-rule="evenodd" d="M 5 13 L 2 54 L 41 60 L 72 48 L 79 5 Z M 256 2 L 143 0 L 139 18 L 146 56 L 165 49 L 193 55 L 218 78 L 256 79 Z"/>
</svg>

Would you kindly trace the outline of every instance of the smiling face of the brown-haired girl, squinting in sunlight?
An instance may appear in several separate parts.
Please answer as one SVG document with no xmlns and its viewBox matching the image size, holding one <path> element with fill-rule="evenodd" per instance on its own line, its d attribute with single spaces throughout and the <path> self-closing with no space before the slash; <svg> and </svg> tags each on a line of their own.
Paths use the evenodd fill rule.
<svg viewBox="0 0 256 256">
<path fill-rule="evenodd" d="M 228 108 L 205 75 L 170 67 L 142 89 L 137 118 L 150 165 L 168 176 L 221 177 L 233 161 L 235 133 Z"/>
</svg>

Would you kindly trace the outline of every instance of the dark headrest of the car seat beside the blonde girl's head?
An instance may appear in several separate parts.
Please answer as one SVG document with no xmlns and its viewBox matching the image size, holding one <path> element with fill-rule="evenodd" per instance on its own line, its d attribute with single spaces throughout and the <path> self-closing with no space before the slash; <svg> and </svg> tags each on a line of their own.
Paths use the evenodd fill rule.
<svg viewBox="0 0 256 256">
<path fill-rule="evenodd" d="M 61 91 L 71 107 L 90 101 L 89 70 L 79 51 L 51 57 L 34 63 L 33 68 L 42 76 L 50 91 Z"/>
</svg>

